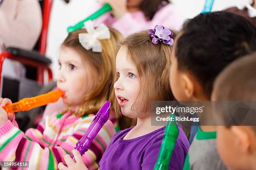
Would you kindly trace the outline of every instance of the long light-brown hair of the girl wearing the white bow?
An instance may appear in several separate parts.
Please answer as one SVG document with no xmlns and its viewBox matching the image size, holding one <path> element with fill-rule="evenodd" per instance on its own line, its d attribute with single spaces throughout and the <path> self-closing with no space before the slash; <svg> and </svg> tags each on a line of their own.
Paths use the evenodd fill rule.
<svg viewBox="0 0 256 170">
<path fill-rule="evenodd" d="M 70 32 L 62 43 L 64 47 L 71 47 L 76 50 L 82 56 L 84 63 L 89 63 L 93 71 L 97 73 L 97 77 L 99 77 L 99 79 L 96 79 L 97 82 L 94 82 L 92 90 L 84 96 L 83 104 L 79 107 L 77 112 L 75 112 L 78 116 L 96 113 L 106 100 L 112 102 L 114 92 L 110 88 L 113 76 L 115 75 L 115 47 L 117 41 L 121 40 L 123 37 L 117 30 L 113 28 L 109 28 L 109 30 L 110 39 L 100 40 L 102 52 L 86 50 L 79 43 L 78 35 L 80 33 L 87 33 L 85 29 Z M 71 108 L 67 108 L 67 110 L 70 109 Z"/>
</svg>

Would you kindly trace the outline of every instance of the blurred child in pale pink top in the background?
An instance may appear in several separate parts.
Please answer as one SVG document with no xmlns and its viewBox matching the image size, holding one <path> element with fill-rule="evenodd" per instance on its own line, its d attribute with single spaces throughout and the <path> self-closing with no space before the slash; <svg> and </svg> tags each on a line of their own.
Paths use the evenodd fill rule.
<svg viewBox="0 0 256 170">
<path fill-rule="evenodd" d="M 169 0 L 99 1 L 102 4 L 109 3 L 113 10 L 97 18 L 94 23 L 104 23 L 118 30 L 125 37 L 137 31 L 154 28 L 156 24 L 175 30 L 179 30 L 182 25 L 181 13 Z"/>
</svg>

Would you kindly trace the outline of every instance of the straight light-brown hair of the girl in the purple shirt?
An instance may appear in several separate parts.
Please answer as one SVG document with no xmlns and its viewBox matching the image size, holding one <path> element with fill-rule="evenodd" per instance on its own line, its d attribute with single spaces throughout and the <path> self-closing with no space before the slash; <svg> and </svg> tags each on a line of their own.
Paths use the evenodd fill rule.
<svg viewBox="0 0 256 170">
<path fill-rule="evenodd" d="M 174 37 L 175 37 L 174 33 Z M 162 42 L 156 45 L 152 42 L 151 35 L 147 31 L 136 32 L 129 35 L 118 44 L 125 47 L 129 60 L 135 65 L 141 85 L 139 94 L 142 94 L 144 103 L 140 105 L 139 111 L 146 112 L 151 101 L 174 100 L 172 90 L 169 85 L 169 64 L 172 46 Z M 118 80 L 115 76 L 114 82 Z M 120 106 L 116 98 L 113 100 L 115 112 L 121 115 Z M 138 110 L 138 105 L 133 103 L 132 110 Z"/>
</svg>

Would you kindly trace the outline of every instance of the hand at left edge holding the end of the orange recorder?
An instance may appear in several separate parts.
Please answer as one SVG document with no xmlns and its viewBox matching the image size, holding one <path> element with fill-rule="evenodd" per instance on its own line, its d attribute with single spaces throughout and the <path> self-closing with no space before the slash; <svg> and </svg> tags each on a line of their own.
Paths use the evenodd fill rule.
<svg viewBox="0 0 256 170">
<path fill-rule="evenodd" d="M 8 119 L 10 121 L 13 120 L 13 113 L 6 113 L 6 111 L 3 109 L 5 105 L 11 104 L 12 101 L 8 98 L 2 98 L 0 97 L 0 126 L 3 125 Z"/>
</svg>

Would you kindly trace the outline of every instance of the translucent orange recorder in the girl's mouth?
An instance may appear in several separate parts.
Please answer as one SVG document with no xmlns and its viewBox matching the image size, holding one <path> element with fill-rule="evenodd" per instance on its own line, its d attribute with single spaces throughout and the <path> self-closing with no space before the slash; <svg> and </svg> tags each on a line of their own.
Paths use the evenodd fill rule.
<svg viewBox="0 0 256 170">
<path fill-rule="evenodd" d="M 18 102 L 8 104 L 3 108 L 6 112 L 26 111 L 35 107 L 47 105 L 50 102 L 56 102 L 63 95 L 64 92 L 58 89 L 36 97 L 24 98 Z"/>
</svg>

